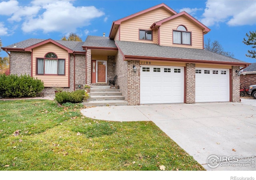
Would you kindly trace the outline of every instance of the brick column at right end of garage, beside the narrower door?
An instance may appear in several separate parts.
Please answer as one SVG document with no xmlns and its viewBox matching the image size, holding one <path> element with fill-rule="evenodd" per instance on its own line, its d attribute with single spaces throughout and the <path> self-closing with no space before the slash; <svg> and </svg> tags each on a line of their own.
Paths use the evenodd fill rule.
<svg viewBox="0 0 256 180">
<path fill-rule="evenodd" d="M 231 74 L 231 101 L 240 102 L 240 76 L 236 74 L 236 70 L 240 70 L 239 66 L 232 66 Z"/>
</svg>

